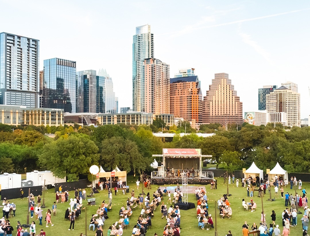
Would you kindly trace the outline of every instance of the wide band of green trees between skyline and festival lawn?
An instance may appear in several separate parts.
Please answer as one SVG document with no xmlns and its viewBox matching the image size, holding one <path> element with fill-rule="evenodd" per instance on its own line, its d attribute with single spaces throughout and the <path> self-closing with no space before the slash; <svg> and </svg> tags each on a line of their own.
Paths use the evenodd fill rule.
<svg viewBox="0 0 310 236">
<path fill-rule="evenodd" d="M 162 148 L 201 148 L 203 155 L 212 155 L 217 166 L 227 170 L 250 166 L 254 161 L 263 170 L 272 169 L 279 162 L 288 172 L 309 172 L 309 127 L 286 131 L 281 124 L 243 124 L 226 130 L 210 124 L 202 128 L 213 130 L 215 135 L 202 138 L 191 133 L 180 137 L 176 133 L 168 143 L 153 136 L 152 127 L 147 125 L 82 128 L 78 124 L 0 124 L 0 172 L 48 169 L 58 177 L 77 180 L 79 175 L 89 174 L 91 165 L 101 165 L 106 170 L 118 166 L 128 173 L 140 173 L 151 171 L 152 155 L 162 154 Z M 44 135 L 52 131 L 55 138 Z"/>
</svg>

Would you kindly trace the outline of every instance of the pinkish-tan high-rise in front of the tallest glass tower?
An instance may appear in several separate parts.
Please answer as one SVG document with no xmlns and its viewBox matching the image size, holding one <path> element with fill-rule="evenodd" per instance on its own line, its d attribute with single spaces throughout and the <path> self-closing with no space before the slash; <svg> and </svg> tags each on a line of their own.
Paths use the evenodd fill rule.
<svg viewBox="0 0 310 236">
<path fill-rule="evenodd" d="M 145 109 L 143 112 L 170 114 L 169 77 L 168 64 L 155 58 L 144 59 Z"/>
</svg>

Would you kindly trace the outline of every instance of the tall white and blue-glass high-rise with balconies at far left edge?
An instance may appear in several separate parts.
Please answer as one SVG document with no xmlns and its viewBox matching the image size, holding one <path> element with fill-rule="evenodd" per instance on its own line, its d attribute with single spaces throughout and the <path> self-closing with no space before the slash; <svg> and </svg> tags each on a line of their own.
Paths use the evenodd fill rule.
<svg viewBox="0 0 310 236">
<path fill-rule="evenodd" d="M 0 33 L 0 104 L 39 107 L 38 39 Z"/>
</svg>

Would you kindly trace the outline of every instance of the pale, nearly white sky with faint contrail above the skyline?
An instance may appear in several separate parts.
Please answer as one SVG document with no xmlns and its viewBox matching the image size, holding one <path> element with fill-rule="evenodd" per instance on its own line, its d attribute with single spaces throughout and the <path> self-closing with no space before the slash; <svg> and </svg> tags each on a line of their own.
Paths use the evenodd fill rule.
<svg viewBox="0 0 310 236">
<path fill-rule="evenodd" d="M 0 32 L 40 40 L 43 60 L 104 68 L 119 107 L 132 107 L 132 37 L 151 25 L 155 58 L 170 77 L 193 67 L 202 94 L 215 73 L 229 74 L 243 111 L 258 109 L 258 88 L 298 84 L 301 118 L 310 115 L 310 1 L 3 1 Z"/>
</svg>

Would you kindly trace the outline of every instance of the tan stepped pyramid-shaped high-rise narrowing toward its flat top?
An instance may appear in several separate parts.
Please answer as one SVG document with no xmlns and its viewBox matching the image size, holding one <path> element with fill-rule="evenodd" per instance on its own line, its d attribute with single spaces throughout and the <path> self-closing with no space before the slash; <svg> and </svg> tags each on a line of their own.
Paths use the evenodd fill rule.
<svg viewBox="0 0 310 236">
<path fill-rule="evenodd" d="M 242 124 L 242 102 L 228 79 L 228 74 L 218 73 L 212 79 L 203 99 L 203 123 Z"/>
</svg>

